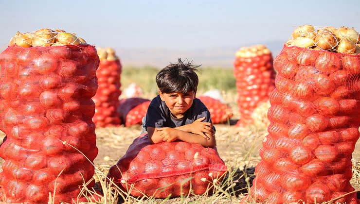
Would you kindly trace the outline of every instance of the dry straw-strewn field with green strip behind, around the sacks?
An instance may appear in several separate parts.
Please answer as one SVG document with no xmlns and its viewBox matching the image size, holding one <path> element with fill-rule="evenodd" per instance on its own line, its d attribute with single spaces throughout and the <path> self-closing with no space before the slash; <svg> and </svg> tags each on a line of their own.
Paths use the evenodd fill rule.
<svg viewBox="0 0 360 204">
<path fill-rule="evenodd" d="M 157 94 L 155 75 L 158 68 L 123 68 L 121 75 L 122 89 L 130 83 L 137 83 L 144 91 L 144 98 L 152 99 Z M 198 95 L 205 91 L 217 88 L 234 112 L 234 117 L 227 124 L 216 125 L 217 149 L 220 157 L 228 166 L 228 174 L 220 186 L 216 186 L 214 195 L 203 195 L 195 197 L 181 197 L 171 199 L 135 199 L 121 193 L 119 189 L 110 189 L 102 183 L 97 183 L 96 188 L 106 195 L 103 203 L 239 203 L 253 179 L 255 165 L 260 161 L 259 149 L 264 136 L 267 135 L 268 121 L 266 111 L 258 114 L 258 121 L 247 127 L 235 127 L 239 119 L 238 107 L 236 104 L 236 88 L 233 70 L 231 68 L 202 68 L 199 75 Z M 121 96 L 121 98 L 124 96 Z M 141 132 L 140 125 L 126 128 L 97 128 L 97 147 L 99 154 L 94 161 L 96 167 L 95 180 L 101 181 L 107 174 L 108 168 L 123 156 L 132 143 L 133 139 Z M 1 133 L 1 137 L 4 134 Z M 351 183 L 356 189 L 360 188 L 360 142 L 357 143 L 353 153 L 353 178 Z M 121 194 L 121 195 L 119 195 Z"/>
</svg>

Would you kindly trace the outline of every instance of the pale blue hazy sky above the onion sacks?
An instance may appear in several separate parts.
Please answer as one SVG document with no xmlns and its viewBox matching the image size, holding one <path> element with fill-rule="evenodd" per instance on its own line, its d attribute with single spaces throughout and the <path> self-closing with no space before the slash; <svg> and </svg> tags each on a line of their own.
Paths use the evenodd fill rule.
<svg viewBox="0 0 360 204">
<path fill-rule="evenodd" d="M 172 50 L 285 41 L 294 26 L 360 31 L 360 0 L 1 0 L 0 43 L 40 28 L 90 44 Z"/>
</svg>

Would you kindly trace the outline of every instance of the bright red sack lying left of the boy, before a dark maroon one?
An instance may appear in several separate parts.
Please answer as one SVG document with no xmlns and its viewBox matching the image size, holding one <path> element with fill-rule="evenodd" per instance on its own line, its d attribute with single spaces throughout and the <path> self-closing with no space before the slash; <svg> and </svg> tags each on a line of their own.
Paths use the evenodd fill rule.
<svg viewBox="0 0 360 204">
<path fill-rule="evenodd" d="M 125 115 L 125 126 L 126 127 L 130 127 L 132 125 L 136 125 L 136 124 L 143 124 L 142 120 L 143 118 L 146 116 L 146 112 L 147 112 L 147 108 L 150 105 L 150 100 L 147 99 L 139 99 L 139 98 L 130 98 L 130 99 L 126 99 L 129 100 L 128 102 L 134 102 L 134 104 L 138 103 L 136 106 L 134 106 L 133 108 L 131 108 L 127 114 Z M 120 105 L 121 107 L 124 107 L 124 112 L 125 113 L 126 110 L 128 110 L 128 102 L 124 102 L 123 105 Z"/>
</svg>

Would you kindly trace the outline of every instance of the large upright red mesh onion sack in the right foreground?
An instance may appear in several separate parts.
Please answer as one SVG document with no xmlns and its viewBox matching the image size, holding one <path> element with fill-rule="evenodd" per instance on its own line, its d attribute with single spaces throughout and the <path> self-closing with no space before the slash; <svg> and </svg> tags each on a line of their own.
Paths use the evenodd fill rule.
<svg viewBox="0 0 360 204">
<path fill-rule="evenodd" d="M 360 136 L 358 36 L 345 27 L 299 26 L 276 56 L 269 135 L 244 201 L 358 203 L 350 184 Z"/>
</svg>

